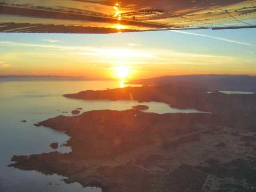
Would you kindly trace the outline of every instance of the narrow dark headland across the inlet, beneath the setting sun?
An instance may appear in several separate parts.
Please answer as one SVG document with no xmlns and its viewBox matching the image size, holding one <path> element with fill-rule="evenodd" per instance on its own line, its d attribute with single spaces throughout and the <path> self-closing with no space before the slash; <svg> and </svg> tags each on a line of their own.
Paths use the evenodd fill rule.
<svg viewBox="0 0 256 192">
<path fill-rule="evenodd" d="M 204 89 L 182 86 L 141 86 L 110 90 L 86 90 L 64 97 L 83 100 L 136 100 L 138 102 L 163 102 L 180 109 L 196 109 L 204 112 L 230 112 L 256 110 L 256 94 L 207 93 Z"/>
</svg>

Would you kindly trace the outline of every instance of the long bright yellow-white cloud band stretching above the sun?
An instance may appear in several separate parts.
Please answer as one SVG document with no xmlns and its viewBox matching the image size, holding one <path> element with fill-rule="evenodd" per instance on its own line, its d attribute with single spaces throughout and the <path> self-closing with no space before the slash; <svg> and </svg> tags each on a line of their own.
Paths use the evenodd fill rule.
<svg viewBox="0 0 256 192">
<path fill-rule="evenodd" d="M 237 56 L 226 56 L 226 55 L 214 55 L 214 54 L 198 54 L 198 53 L 187 53 L 187 52 L 176 52 L 173 50 L 162 49 L 143 49 L 134 50 L 128 48 L 96 48 L 87 46 L 60 46 L 55 44 L 26 44 L 18 42 L 6 42 L 0 41 L 0 46 L 19 46 L 28 48 L 47 48 L 50 53 L 29 53 L 35 56 L 56 54 L 54 57 L 60 55 L 58 52 L 60 49 L 65 49 L 68 52 L 61 54 L 60 58 L 67 60 L 86 61 L 91 64 L 145 64 L 147 66 L 151 64 L 162 64 L 162 65 L 218 65 L 223 64 L 234 64 L 234 63 L 252 63 L 253 60 L 250 58 L 239 58 Z M 52 50 L 49 50 L 52 49 Z M 26 53 L 25 53 L 26 54 Z M 6 53 L 1 55 L 1 59 L 8 62 L 15 62 L 20 60 L 21 56 L 25 55 L 22 53 Z M 52 55 L 51 55 L 52 56 Z M 153 60 L 154 59 L 154 60 Z M 125 63 L 124 63 L 125 62 Z M 0 65 L 1 66 L 1 65 Z"/>
</svg>

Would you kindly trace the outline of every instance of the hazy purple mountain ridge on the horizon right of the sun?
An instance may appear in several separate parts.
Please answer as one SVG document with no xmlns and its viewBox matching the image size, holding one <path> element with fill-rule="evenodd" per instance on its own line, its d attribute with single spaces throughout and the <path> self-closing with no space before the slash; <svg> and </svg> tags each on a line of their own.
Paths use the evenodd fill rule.
<svg viewBox="0 0 256 192">
<path fill-rule="evenodd" d="M 149 79 L 134 80 L 130 83 L 144 85 L 176 85 L 199 88 L 207 91 L 246 91 L 256 92 L 256 76 L 248 75 L 180 75 L 161 76 Z"/>
</svg>

